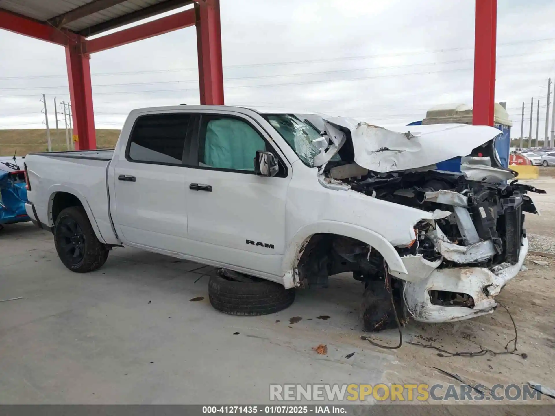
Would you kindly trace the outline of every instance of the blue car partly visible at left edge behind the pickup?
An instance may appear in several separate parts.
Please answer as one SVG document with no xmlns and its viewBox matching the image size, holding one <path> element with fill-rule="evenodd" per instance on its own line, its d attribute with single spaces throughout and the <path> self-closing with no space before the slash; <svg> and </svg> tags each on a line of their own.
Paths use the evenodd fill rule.
<svg viewBox="0 0 555 416">
<path fill-rule="evenodd" d="M 26 185 L 23 158 L 0 156 L 0 227 L 31 221 L 25 211 Z"/>
</svg>

